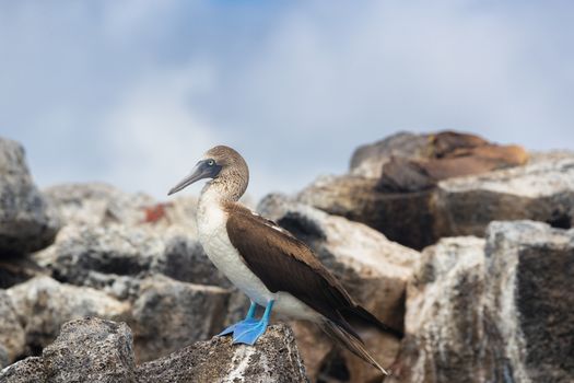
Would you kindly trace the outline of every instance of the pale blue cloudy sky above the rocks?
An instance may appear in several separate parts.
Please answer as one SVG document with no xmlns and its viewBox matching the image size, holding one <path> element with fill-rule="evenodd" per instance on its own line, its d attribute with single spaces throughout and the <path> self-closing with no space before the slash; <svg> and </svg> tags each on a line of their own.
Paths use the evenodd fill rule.
<svg viewBox="0 0 574 383">
<path fill-rule="evenodd" d="M 0 136 L 40 187 L 165 199 L 224 143 L 262 197 L 401 130 L 574 149 L 573 120 L 570 0 L 0 0 Z"/>
</svg>

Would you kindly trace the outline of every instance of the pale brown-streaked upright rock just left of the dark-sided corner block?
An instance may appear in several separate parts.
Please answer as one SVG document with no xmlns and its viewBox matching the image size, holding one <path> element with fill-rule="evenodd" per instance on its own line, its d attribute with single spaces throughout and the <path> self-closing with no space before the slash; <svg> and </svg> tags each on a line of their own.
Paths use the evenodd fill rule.
<svg viewBox="0 0 574 383">
<path fill-rule="evenodd" d="M 499 381 L 491 373 L 503 371 L 493 358 L 502 344 L 485 343 L 481 306 L 484 260 L 484 240 L 471 236 L 424 249 L 407 290 L 406 337 L 390 382 Z"/>
</svg>

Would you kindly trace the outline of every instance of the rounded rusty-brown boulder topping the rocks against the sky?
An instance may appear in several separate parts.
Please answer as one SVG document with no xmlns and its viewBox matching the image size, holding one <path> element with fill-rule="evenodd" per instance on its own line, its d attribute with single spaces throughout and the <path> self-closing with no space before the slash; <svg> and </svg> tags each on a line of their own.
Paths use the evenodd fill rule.
<svg viewBox="0 0 574 383">
<path fill-rule="evenodd" d="M 400 132 L 360 147 L 351 159 L 351 174 L 379 178 L 386 192 L 420 192 L 440 179 L 523 165 L 526 151 L 497 146 L 456 131 L 427 135 Z"/>
</svg>

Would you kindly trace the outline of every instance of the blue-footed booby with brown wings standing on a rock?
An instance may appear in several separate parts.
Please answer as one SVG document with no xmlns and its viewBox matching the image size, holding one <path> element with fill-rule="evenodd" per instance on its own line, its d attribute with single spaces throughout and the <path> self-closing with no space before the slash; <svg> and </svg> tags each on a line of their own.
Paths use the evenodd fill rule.
<svg viewBox="0 0 574 383">
<path fill-rule="evenodd" d="M 271 312 L 279 312 L 318 324 L 337 343 L 389 374 L 351 323 L 374 326 L 399 339 L 403 334 L 359 305 L 305 243 L 238 201 L 249 183 L 244 158 L 230 147 L 213 147 L 168 195 L 200 179 L 209 181 L 197 206 L 199 242 L 215 267 L 250 300 L 245 318 L 218 335 L 232 335 L 234 344 L 253 346 L 266 332 Z M 258 305 L 265 307 L 259 320 Z"/>
</svg>

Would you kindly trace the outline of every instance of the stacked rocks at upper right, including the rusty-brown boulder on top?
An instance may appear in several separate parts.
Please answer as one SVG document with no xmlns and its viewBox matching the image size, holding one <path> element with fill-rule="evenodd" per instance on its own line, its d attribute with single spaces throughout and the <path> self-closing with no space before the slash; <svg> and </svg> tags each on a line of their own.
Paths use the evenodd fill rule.
<svg viewBox="0 0 574 383">
<path fill-rule="evenodd" d="M 574 153 L 528 160 L 520 148 L 484 142 L 452 132 L 399 134 L 360 148 L 349 174 L 321 177 L 297 199 L 417 249 L 446 236 L 483 236 L 493 220 L 571 228 Z"/>
</svg>

